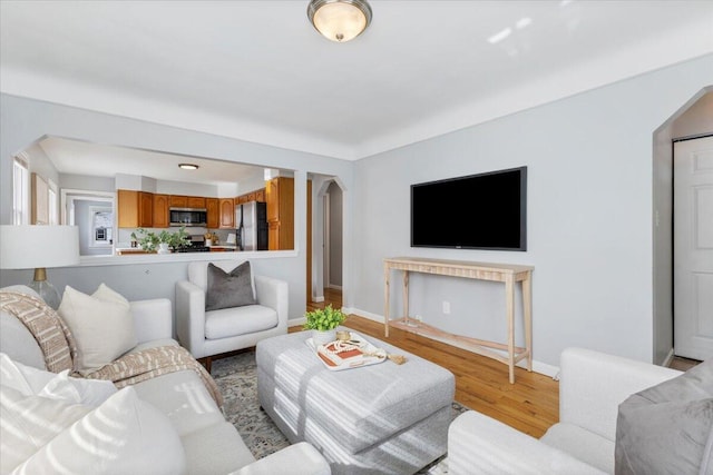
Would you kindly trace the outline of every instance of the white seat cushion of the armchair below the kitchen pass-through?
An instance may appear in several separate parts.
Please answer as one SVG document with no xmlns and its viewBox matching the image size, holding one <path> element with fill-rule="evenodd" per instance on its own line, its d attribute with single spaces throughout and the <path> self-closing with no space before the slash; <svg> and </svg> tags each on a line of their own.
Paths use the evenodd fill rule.
<svg viewBox="0 0 713 475">
<path fill-rule="evenodd" d="M 223 308 L 205 314 L 205 337 L 207 339 L 247 335 L 277 326 L 277 313 L 262 305 Z"/>
</svg>

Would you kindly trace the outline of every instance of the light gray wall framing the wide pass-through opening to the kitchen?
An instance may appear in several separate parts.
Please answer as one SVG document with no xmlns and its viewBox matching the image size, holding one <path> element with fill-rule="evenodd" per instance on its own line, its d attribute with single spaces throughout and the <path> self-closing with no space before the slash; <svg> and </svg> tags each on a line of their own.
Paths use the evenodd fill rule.
<svg viewBox="0 0 713 475">
<path fill-rule="evenodd" d="M 0 224 L 11 222 L 12 155 L 45 135 L 295 170 L 295 251 L 263 253 L 252 260 L 257 274 L 287 280 L 290 318 L 304 314 L 306 174 L 338 176 L 351 185 L 352 162 L 0 95 Z M 117 260 L 120 258 L 102 258 L 102 264 L 96 266 L 87 258 L 81 266 L 50 269 L 49 278 L 60 289 L 71 285 L 81 291 L 94 291 L 105 281 L 131 300 L 153 297 L 173 300 L 175 283 L 186 277 L 185 261 L 124 264 L 127 260 Z M 107 259 L 111 263 L 107 264 Z M 31 270 L 0 270 L 0 286 L 30 279 Z M 345 300 L 349 303 L 349 297 Z"/>
</svg>

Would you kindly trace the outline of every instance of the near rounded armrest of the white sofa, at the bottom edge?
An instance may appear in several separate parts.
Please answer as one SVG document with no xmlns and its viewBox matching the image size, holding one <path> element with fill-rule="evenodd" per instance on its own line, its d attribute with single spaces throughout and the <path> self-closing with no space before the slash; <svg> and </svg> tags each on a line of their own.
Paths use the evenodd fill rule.
<svg viewBox="0 0 713 475">
<path fill-rule="evenodd" d="M 322 454 L 306 442 L 291 445 L 229 475 L 330 475 L 332 471 Z"/>
</svg>

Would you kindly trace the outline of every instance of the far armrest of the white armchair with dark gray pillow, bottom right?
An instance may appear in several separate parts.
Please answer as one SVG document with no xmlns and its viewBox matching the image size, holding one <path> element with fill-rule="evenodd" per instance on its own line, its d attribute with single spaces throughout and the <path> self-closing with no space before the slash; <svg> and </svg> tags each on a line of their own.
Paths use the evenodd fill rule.
<svg viewBox="0 0 713 475">
<path fill-rule="evenodd" d="M 648 363 L 584 348 L 560 357 L 559 420 L 616 439 L 618 405 L 628 396 L 681 374 Z"/>
</svg>

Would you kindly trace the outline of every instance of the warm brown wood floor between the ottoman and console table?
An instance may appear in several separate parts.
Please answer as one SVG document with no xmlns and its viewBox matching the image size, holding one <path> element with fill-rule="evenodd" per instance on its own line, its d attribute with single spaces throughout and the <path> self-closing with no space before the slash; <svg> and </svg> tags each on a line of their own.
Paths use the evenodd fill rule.
<svg viewBox="0 0 713 475">
<path fill-rule="evenodd" d="M 334 308 L 342 306 L 339 290 L 325 289 L 324 297 L 323 303 L 307 304 L 307 310 L 330 303 Z M 508 367 L 494 359 L 395 328 L 385 338 L 383 324 L 356 315 L 350 315 L 344 325 L 449 369 L 456 376 L 457 402 L 520 432 L 540 437 L 558 420 L 559 384 L 549 376 L 516 368 L 511 385 Z"/>
</svg>

